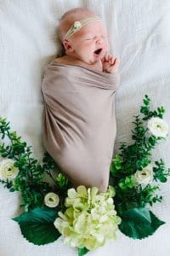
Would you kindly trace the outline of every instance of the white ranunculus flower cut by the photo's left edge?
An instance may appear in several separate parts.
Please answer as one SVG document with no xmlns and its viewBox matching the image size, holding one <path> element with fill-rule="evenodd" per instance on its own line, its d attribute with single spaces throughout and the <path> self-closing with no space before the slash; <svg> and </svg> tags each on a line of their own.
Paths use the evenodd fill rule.
<svg viewBox="0 0 170 256">
<path fill-rule="evenodd" d="M 14 167 L 14 160 L 6 159 L 0 162 L 0 179 L 13 180 L 18 173 L 19 169 Z"/>
</svg>

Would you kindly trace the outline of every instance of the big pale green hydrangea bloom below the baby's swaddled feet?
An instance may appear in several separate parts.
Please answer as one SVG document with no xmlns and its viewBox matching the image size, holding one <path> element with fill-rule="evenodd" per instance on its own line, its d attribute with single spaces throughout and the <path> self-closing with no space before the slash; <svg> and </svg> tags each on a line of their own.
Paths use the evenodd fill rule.
<svg viewBox="0 0 170 256">
<path fill-rule="evenodd" d="M 67 209 L 64 214 L 59 212 L 59 218 L 54 221 L 55 227 L 65 236 L 65 244 L 94 250 L 116 238 L 121 218 L 116 216 L 113 187 L 99 193 L 95 187 L 79 186 L 77 190 L 68 189 L 67 195 Z"/>
</svg>

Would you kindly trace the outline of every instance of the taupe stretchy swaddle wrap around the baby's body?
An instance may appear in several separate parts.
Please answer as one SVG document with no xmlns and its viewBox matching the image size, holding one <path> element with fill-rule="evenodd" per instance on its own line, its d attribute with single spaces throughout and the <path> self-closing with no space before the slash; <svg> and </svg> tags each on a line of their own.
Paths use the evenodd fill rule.
<svg viewBox="0 0 170 256">
<path fill-rule="evenodd" d="M 116 137 L 117 73 L 52 61 L 42 81 L 43 143 L 71 182 L 104 191 Z"/>
</svg>

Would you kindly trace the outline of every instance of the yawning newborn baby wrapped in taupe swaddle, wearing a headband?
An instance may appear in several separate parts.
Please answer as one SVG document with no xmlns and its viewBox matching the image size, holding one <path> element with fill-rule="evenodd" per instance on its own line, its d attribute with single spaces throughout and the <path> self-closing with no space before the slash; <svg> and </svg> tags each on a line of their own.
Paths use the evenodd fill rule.
<svg viewBox="0 0 170 256">
<path fill-rule="evenodd" d="M 71 9 L 59 22 L 65 55 L 46 68 L 43 143 L 77 186 L 105 191 L 116 137 L 115 92 L 119 59 L 107 55 L 99 16 Z"/>
</svg>

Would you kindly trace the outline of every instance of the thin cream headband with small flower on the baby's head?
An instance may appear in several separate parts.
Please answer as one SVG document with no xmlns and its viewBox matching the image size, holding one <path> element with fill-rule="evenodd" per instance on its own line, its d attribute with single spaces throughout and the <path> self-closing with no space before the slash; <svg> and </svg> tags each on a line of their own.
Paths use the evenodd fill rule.
<svg viewBox="0 0 170 256">
<path fill-rule="evenodd" d="M 77 31 L 79 31 L 82 28 L 82 26 L 86 26 L 88 23 L 94 22 L 96 20 L 101 20 L 101 19 L 99 19 L 98 16 L 94 16 L 94 17 L 87 18 L 84 20 L 75 21 L 74 24 L 71 26 L 71 28 L 66 32 L 64 41 L 67 40 L 68 38 L 70 38 Z"/>
</svg>

